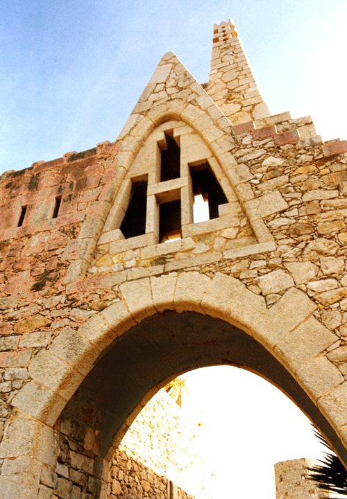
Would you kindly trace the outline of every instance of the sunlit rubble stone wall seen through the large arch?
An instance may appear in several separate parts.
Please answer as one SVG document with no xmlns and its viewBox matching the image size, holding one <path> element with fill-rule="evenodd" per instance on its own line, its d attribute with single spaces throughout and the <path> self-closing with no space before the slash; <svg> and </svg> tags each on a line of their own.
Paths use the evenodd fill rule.
<svg viewBox="0 0 347 499">
<path fill-rule="evenodd" d="M 139 413 L 110 464 L 110 499 L 212 497 L 202 428 L 161 390 Z"/>
</svg>

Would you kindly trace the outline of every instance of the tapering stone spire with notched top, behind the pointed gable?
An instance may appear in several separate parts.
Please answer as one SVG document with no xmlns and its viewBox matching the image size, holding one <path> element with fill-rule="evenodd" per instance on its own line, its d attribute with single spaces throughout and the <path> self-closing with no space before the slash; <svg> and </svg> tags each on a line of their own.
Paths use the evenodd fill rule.
<svg viewBox="0 0 347 499">
<path fill-rule="evenodd" d="M 214 24 L 205 89 L 233 125 L 270 116 L 232 19 Z"/>
</svg>

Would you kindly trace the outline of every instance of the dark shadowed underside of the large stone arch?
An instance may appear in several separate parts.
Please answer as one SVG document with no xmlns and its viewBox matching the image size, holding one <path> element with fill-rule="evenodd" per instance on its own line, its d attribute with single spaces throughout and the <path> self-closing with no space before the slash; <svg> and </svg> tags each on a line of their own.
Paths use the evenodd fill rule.
<svg viewBox="0 0 347 499">
<path fill-rule="evenodd" d="M 65 450 L 60 450 L 58 461 L 69 466 L 69 441 L 85 449 L 86 435 L 92 435 L 93 443 L 87 450 L 95 454 L 95 498 L 107 497 L 102 495 L 108 480 L 105 463 L 112 459 L 146 402 L 168 380 L 213 365 L 242 367 L 269 380 L 303 410 L 347 460 L 344 446 L 323 414 L 259 342 L 221 319 L 166 310 L 147 317 L 103 351 L 61 414 L 60 449 Z"/>
</svg>

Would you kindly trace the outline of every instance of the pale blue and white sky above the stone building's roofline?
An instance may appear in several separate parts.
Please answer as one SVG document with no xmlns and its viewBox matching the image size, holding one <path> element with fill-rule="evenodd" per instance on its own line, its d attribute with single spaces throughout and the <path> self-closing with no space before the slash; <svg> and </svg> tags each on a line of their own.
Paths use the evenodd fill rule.
<svg viewBox="0 0 347 499">
<path fill-rule="evenodd" d="M 235 20 L 272 114 L 347 138 L 341 0 L 4 0 L 0 173 L 115 141 L 167 51 L 208 80 L 214 22 Z"/>
</svg>

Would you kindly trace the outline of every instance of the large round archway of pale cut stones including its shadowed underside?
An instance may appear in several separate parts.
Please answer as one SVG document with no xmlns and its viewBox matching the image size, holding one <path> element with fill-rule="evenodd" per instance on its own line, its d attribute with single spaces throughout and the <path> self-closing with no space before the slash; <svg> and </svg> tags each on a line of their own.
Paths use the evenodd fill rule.
<svg viewBox="0 0 347 499">
<path fill-rule="evenodd" d="M 33 379 L 13 401 L 17 417 L 2 451 L 18 466 L 14 458 L 26 449 L 30 459 L 21 462 L 34 493 L 42 466 L 56 466 L 62 426 L 65 433 L 77 431 L 74 466 L 94 479 L 94 496 L 104 498 L 115 446 L 151 396 L 184 371 L 230 364 L 282 389 L 346 462 L 337 421 L 344 383 L 337 368 L 325 363 L 323 352 L 334 338 L 312 317 L 315 308 L 295 288 L 266 308 L 263 297 L 219 273 L 212 279 L 174 272 L 128 281 L 119 301 L 75 335 L 69 331 L 69 342 L 60 335 L 33 359 Z"/>
</svg>

